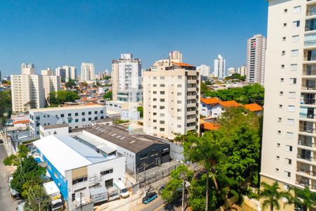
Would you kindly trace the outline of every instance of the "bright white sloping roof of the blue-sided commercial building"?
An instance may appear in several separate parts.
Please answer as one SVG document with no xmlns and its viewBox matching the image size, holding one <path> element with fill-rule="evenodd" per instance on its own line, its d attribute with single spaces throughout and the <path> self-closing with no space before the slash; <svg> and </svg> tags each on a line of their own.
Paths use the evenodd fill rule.
<svg viewBox="0 0 316 211">
<path fill-rule="evenodd" d="M 63 177 L 67 170 L 108 160 L 70 136 L 51 135 L 33 143 Z"/>
</svg>

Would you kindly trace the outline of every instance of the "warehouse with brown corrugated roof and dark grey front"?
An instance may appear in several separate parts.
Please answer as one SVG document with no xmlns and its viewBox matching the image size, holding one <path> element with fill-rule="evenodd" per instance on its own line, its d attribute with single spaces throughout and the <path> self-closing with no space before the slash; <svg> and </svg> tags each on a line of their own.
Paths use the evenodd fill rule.
<svg viewBox="0 0 316 211">
<path fill-rule="evenodd" d="M 116 126 L 96 124 L 84 129 L 75 139 L 102 155 L 126 157 L 126 170 L 131 174 L 143 172 L 144 166 L 148 170 L 170 161 L 168 143 Z"/>
</svg>

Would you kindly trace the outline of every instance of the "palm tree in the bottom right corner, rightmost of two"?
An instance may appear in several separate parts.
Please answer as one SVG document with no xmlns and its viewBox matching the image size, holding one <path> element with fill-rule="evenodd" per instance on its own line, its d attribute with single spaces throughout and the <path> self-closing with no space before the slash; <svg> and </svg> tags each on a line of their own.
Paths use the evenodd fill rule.
<svg viewBox="0 0 316 211">
<path fill-rule="evenodd" d="M 305 186 L 304 189 L 290 188 L 290 190 L 294 191 L 295 196 L 291 196 L 288 204 L 294 204 L 305 211 L 316 206 L 316 193 L 312 193 L 308 186 Z"/>
</svg>

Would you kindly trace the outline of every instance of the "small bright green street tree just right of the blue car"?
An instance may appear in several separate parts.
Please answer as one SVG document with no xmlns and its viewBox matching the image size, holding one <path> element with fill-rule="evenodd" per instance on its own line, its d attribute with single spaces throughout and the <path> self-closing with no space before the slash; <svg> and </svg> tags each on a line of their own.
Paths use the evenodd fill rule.
<svg viewBox="0 0 316 211">
<path fill-rule="evenodd" d="M 162 199 L 166 201 L 166 203 L 171 203 L 173 200 L 179 198 L 182 194 L 183 188 L 183 179 L 181 177 L 185 177 L 187 181 L 190 181 L 192 176 L 193 172 L 191 170 L 189 170 L 185 165 L 179 165 L 176 170 L 171 172 L 171 179 L 162 191 Z"/>
</svg>

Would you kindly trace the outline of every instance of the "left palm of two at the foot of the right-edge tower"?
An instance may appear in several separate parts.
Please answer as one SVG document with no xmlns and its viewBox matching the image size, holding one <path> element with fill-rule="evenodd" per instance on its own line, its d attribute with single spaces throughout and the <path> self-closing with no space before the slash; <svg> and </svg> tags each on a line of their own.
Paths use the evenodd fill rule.
<svg viewBox="0 0 316 211">
<path fill-rule="evenodd" d="M 259 197 L 264 199 L 262 203 L 263 209 L 270 206 L 270 211 L 273 211 L 274 208 L 279 210 L 279 200 L 282 198 L 289 199 L 291 196 L 288 191 L 280 191 L 277 181 L 275 181 L 272 185 L 266 184 L 263 181 L 261 182 L 261 186 L 263 187 L 263 190 L 259 192 Z"/>
</svg>

